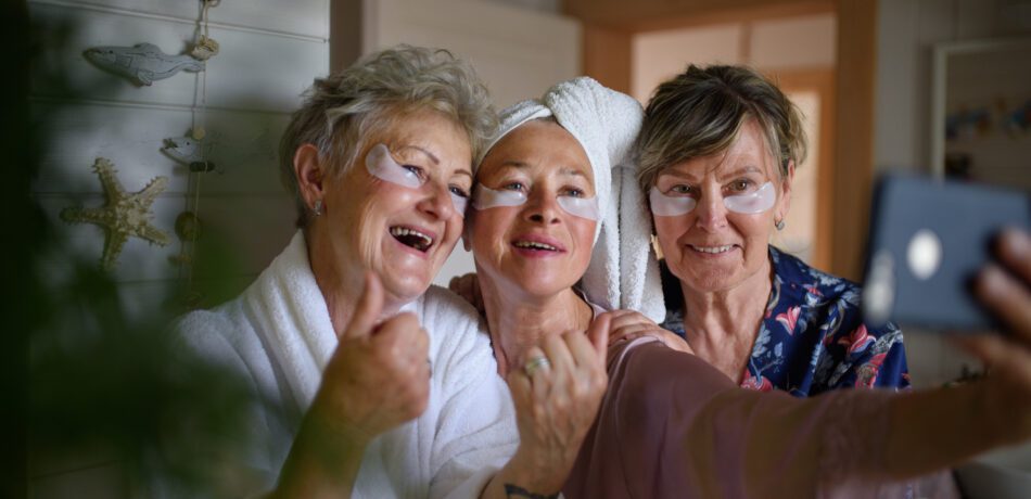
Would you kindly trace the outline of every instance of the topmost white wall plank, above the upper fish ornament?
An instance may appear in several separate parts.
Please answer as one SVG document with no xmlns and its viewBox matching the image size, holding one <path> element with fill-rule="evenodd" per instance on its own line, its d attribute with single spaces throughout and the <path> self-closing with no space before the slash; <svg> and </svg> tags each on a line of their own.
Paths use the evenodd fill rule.
<svg viewBox="0 0 1031 499">
<path fill-rule="evenodd" d="M 115 10 L 145 16 L 167 16 L 193 23 L 200 13 L 200 0 L 35 0 L 36 3 L 75 5 L 84 9 Z M 212 26 L 268 29 L 329 39 L 326 16 L 329 0 L 234 0 L 224 1 L 208 11 Z"/>
</svg>

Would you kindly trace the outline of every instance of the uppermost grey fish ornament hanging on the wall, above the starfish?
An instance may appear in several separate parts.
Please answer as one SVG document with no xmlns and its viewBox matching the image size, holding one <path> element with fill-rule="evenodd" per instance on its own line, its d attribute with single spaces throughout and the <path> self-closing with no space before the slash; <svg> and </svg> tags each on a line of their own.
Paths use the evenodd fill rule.
<svg viewBox="0 0 1031 499">
<path fill-rule="evenodd" d="M 105 71 L 147 86 L 175 76 L 180 71 L 194 73 L 204 71 L 204 61 L 198 61 L 190 55 L 166 54 L 153 43 L 139 43 L 135 47 L 93 47 L 84 55 Z"/>
</svg>

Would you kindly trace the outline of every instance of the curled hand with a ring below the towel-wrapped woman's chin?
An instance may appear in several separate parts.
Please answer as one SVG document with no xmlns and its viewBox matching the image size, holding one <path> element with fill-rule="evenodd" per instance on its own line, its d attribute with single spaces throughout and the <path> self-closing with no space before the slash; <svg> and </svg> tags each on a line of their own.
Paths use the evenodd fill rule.
<svg viewBox="0 0 1031 499">
<path fill-rule="evenodd" d="M 532 466 L 534 483 L 520 484 L 536 494 L 561 489 L 580 446 L 594 424 L 608 384 L 606 350 L 611 317 L 599 317 L 587 334 L 571 331 L 544 337 L 520 368 L 509 372 L 520 445 L 514 460 Z M 527 375 L 522 366 L 545 356 L 550 366 Z"/>
</svg>

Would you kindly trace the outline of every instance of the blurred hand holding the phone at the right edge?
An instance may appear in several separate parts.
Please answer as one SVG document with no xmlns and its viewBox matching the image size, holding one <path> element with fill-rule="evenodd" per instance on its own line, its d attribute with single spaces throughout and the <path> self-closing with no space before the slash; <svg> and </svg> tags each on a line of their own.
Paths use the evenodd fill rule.
<svg viewBox="0 0 1031 499">
<path fill-rule="evenodd" d="M 1000 414 L 1000 424 L 1022 440 L 1031 438 L 1031 238 L 1007 230 L 996 253 L 1008 272 L 987 266 L 978 276 L 975 294 L 1002 319 L 1009 334 L 957 340 L 989 368 L 988 401 Z"/>
</svg>

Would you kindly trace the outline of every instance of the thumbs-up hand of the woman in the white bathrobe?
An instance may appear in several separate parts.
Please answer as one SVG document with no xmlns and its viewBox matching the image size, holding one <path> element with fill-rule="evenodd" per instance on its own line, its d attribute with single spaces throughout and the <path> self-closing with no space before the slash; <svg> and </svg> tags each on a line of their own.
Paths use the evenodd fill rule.
<svg viewBox="0 0 1031 499">
<path fill-rule="evenodd" d="M 377 324 L 382 308 L 383 285 L 369 272 L 309 410 L 321 427 L 356 443 L 417 418 L 429 401 L 429 336 L 411 314 Z"/>
</svg>

